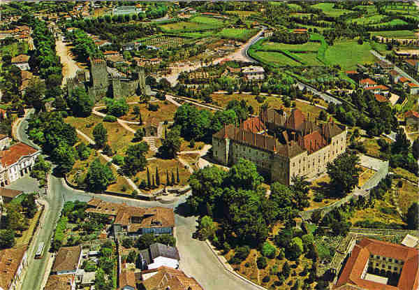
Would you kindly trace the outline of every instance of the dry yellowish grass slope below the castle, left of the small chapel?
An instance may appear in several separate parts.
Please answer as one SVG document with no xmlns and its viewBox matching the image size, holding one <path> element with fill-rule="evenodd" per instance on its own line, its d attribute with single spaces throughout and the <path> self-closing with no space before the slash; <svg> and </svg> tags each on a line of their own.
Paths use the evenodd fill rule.
<svg viewBox="0 0 419 290">
<path fill-rule="evenodd" d="M 95 115 L 90 115 L 85 118 L 71 116 L 66 118 L 66 122 L 93 139 L 92 132 L 94 126 L 102 122 L 102 118 Z M 103 126 L 108 130 L 108 143 L 112 147 L 112 150 L 117 151 L 117 154 L 124 155 L 128 145 L 134 144 L 132 143 L 134 134 L 124 129 L 117 122 L 103 122 Z M 87 143 L 87 140 L 84 140 L 81 136 L 79 137 L 84 143 Z"/>
</svg>

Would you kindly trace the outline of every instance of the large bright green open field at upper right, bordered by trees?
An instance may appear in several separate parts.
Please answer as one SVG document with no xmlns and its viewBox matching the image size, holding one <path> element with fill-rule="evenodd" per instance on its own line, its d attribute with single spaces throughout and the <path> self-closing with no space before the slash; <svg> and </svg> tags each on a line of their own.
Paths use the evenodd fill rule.
<svg viewBox="0 0 419 290">
<path fill-rule="evenodd" d="M 367 41 L 362 45 L 355 40 L 337 41 L 326 50 L 325 60 L 328 64 L 339 64 L 342 69 L 351 69 L 357 64 L 372 64 L 376 60 L 369 50 L 372 46 Z"/>
</svg>

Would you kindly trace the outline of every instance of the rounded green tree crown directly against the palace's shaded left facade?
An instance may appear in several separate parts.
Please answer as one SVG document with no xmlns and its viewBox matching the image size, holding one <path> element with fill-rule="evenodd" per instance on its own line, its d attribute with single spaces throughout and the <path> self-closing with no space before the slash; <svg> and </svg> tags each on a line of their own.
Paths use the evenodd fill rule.
<svg viewBox="0 0 419 290">
<path fill-rule="evenodd" d="M 228 182 L 228 185 L 236 188 L 256 190 L 263 182 L 263 177 L 259 175 L 253 162 L 241 158 L 228 171 Z"/>
</svg>

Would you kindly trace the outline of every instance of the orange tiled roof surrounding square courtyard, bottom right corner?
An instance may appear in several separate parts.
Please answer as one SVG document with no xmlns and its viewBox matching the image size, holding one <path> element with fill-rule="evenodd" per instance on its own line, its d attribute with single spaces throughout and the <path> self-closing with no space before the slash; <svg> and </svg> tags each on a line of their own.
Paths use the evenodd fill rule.
<svg viewBox="0 0 419 290">
<path fill-rule="evenodd" d="M 370 255 L 404 261 L 397 287 L 361 278 Z M 416 290 L 419 286 L 419 250 L 365 238 L 353 248 L 335 289 L 345 284 L 352 284 L 368 290 Z"/>
</svg>

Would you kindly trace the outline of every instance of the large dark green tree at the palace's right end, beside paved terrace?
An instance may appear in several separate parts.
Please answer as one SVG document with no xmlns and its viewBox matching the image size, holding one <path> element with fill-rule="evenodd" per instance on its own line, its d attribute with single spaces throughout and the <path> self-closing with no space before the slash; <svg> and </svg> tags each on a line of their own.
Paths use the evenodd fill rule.
<svg viewBox="0 0 419 290">
<path fill-rule="evenodd" d="M 330 189 L 337 196 L 345 196 L 356 184 L 361 169 L 356 165 L 360 158 L 355 154 L 344 152 L 337 159 L 328 163 L 328 175 L 330 176 Z"/>
</svg>

